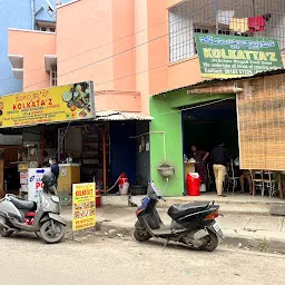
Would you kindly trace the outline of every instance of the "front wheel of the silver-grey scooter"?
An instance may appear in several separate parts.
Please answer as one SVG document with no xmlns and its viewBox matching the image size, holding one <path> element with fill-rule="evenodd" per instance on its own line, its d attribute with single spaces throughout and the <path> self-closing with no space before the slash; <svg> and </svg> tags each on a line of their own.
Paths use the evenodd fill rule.
<svg viewBox="0 0 285 285">
<path fill-rule="evenodd" d="M 52 228 L 52 223 L 53 223 L 53 228 Z M 47 244 L 59 243 L 63 238 L 65 234 L 66 234 L 65 225 L 60 224 L 57 220 L 49 219 L 45 222 L 40 228 L 41 238 Z"/>
</svg>

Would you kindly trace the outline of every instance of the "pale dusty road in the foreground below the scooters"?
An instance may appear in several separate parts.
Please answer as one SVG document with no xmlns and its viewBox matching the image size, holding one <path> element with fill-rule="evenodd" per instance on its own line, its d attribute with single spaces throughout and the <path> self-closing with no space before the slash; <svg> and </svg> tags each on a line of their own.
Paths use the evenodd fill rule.
<svg viewBox="0 0 285 285">
<path fill-rule="evenodd" d="M 90 236 L 46 245 L 0 237 L 2 285 L 284 284 L 285 257 L 220 247 L 214 253 Z"/>
</svg>

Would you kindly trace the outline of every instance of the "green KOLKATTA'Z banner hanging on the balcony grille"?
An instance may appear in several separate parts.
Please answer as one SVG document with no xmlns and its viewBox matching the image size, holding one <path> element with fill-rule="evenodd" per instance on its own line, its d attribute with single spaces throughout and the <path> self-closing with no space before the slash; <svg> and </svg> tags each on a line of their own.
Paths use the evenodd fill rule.
<svg viewBox="0 0 285 285">
<path fill-rule="evenodd" d="M 246 77 L 283 68 L 275 39 L 196 33 L 202 77 Z"/>
</svg>

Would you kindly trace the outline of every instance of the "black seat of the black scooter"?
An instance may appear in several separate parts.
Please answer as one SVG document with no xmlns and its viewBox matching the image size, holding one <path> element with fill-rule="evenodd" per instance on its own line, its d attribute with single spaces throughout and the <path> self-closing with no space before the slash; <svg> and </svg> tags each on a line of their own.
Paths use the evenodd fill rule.
<svg viewBox="0 0 285 285">
<path fill-rule="evenodd" d="M 168 209 L 168 215 L 173 218 L 179 218 L 181 216 L 186 216 L 189 214 L 194 214 L 196 212 L 200 212 L 206 209 L 209 206 L 210 202 L 197 202 L 197 203 L 189 203 L 184 205 L 173 205 Z"/>
</svg>

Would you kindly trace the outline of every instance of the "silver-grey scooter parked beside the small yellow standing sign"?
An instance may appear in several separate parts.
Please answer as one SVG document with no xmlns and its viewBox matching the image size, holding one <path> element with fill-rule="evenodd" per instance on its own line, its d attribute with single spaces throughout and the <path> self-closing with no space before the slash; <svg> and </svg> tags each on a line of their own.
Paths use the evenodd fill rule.
<svg viewBox="0 0 285 285">
<path fill-rule="evenodd" d="M 59 243 L 66 233 L 66 223 L 59 214 L 55 185 L 43 185 L 39 205 L 7 194 L 0 200 L 0 235 L 9 237 L 14 232 L 35 232 L 48 244 Z"/>
</svg>

